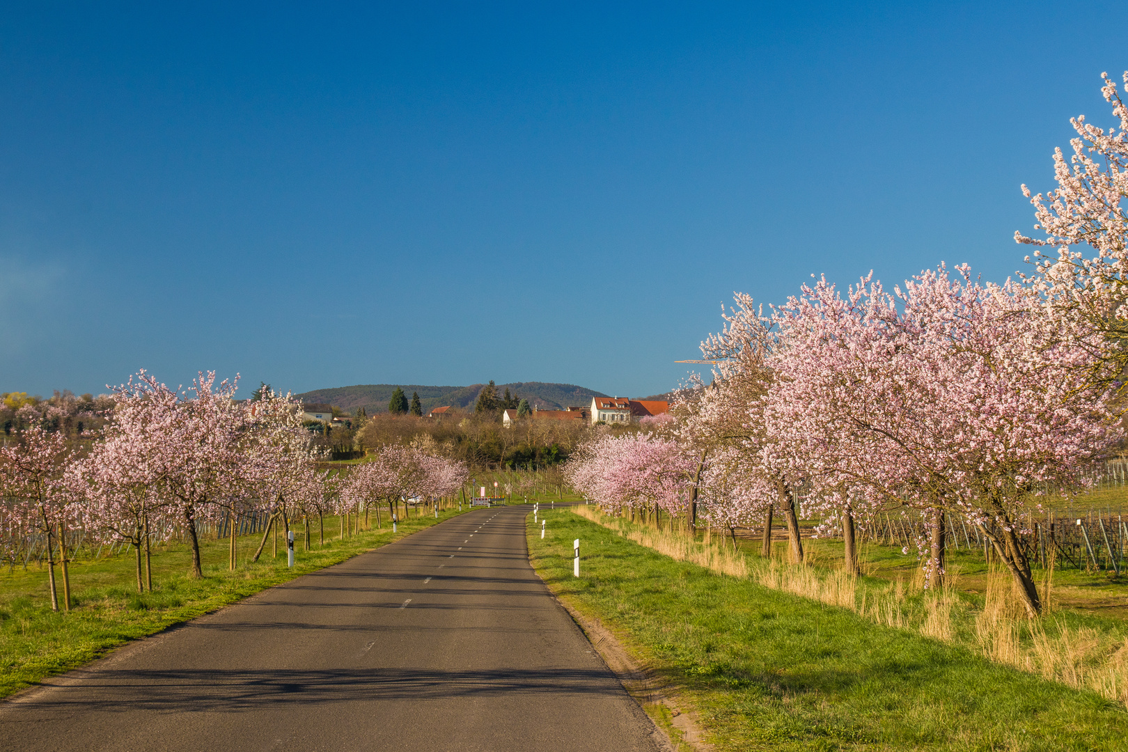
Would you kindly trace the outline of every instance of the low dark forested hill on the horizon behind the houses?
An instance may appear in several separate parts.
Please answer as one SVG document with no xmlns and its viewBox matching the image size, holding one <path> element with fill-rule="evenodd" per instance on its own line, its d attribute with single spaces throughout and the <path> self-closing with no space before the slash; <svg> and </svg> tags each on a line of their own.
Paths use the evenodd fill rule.
<svg viewBox="0 0 1128 752">
<path fill-rule="evenodd" d="M 333 405 L 349 413 L 355 413 L 358 407 L 363 407 L 369 415 L 373 413 L 386 413 L 388 400 L 396 387 L 400 387 L 407 398 L 412 392 L 420 393 L 420 401 L 423 404 L 423 413 L 440 407 L 451 405 L 455 407 L 474 407 L 474 400 L 478 398 L 478 392 L 485 384 L 475 383 L 469 387 L 429 387 L 409 383 L 368 383 L 355 387 L 335 387 L 333 389 L 315 389 L 301 395 L 298 399 L 303 402 L 319 405 Z M 497 384 L 497 396 L 505 393 L 505 388 L 518 397 L 525 397 L 530 405 L 541 409 L 562 409 L 569 405 L 589 405 L 592 397 L 607 397 L 601 391 L 592 391 L 572 383 L 547 383 L 544 381 L 520 381 L 515 383 Z"/>
</svg>

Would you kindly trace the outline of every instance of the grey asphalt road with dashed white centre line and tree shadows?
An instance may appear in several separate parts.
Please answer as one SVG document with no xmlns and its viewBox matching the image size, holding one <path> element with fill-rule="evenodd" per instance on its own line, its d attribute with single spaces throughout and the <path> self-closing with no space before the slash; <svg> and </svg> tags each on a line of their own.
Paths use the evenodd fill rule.
<svg viewBox="0 0 1128 752">
<path fill-rule="evenodd" d="M 477 510 L 0 704 L 0 749 L 661 749 L 532 572 L 528 507 Z"/>
</svg>

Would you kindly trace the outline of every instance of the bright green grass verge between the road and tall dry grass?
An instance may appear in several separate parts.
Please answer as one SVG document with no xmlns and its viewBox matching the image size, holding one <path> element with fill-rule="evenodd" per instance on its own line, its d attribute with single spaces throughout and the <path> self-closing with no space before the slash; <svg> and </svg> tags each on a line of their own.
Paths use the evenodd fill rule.
<svg viewBox="0 0 1128 752">
<path fill-rule="evenodd" d="M 545 515 L 549 587 L 680 687 L 719 750 L 1128 749 L 1128 713 L 1095 693 Z"/>
</svg>

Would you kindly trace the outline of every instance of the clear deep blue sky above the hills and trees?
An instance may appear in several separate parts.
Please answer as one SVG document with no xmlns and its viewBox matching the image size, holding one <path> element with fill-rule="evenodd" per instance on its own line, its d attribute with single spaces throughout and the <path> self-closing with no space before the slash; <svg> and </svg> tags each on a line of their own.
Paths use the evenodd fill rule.
<svg viewBox="0 0 1128 752">
<path fill-rule="evenodd" d="M 733 291 L 1013 274 L 1128 69 L 1123 2 L 156 5 L 0 18 L 0 391 L 664 391 Z"/>
</svg>

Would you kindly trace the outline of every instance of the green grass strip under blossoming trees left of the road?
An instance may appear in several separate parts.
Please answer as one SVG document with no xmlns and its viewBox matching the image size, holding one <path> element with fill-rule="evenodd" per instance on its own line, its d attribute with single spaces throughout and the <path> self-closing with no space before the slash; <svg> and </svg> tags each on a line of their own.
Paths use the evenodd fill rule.
<svg viewBox="0 0 1128 752">
<path fill-rule="evenodd" d="M 467 511 L 469 507 L 464 507 Z M 326 517 L 325 547 L 318 546 L 316 524 L 310 525 L 312 549 L 302 550 L 301 524 L 296 531 L 296 558 L 287 567 L 284 543 L 272 556 L 267 542 L 257 564 L 249 564 L 259 536 L 238 539 L 239 566 L 228 570 L 227 540 L 202 541 L 204 577 L 187 576 L 192 552 L 186 545 L 170 545 L 152 557 L 152 592 L 139 595 L 134 555 L 74 561 L 70 565 L 72 600 L 69 614 L 50 608 L 46 567 L 32 565 L 27 572 L 0 574 L 0 697 L 33 684 L 45 676 L 82 665 L 131 639 L 152 635 L 173 625 L 213 611 L 266 587 L 293 580 L 321 567 L 338 564 L 417 530 L 459 514 L 458 507 L 433 516 L 414 514 L 398 525 L 362 531 L 338 540 L 337 517 Z M 370 517 L 374 527 L 374 514 Z M 385 521 L 387 522 L 387 521 Z M 62 582 L 56 567 L 60 599 Z"/>
</svg>

